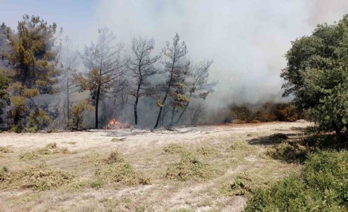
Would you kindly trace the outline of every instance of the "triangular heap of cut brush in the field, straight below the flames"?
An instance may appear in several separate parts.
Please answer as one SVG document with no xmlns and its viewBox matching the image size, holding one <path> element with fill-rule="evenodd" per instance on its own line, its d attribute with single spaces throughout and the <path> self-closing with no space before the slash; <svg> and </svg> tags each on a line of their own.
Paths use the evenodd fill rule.
<svg viewBox="0 0 348 212">
<path fill-rule="evenodd" d="M 150 184 L 150 180 L 136 172 L 117 151 L 112 152 L 104 162 L 105 164 L 95 173 L 96 179 L 92 182 L 92 187 L 102 187 L 107 183 L 130 186 Z"/>
</svg>

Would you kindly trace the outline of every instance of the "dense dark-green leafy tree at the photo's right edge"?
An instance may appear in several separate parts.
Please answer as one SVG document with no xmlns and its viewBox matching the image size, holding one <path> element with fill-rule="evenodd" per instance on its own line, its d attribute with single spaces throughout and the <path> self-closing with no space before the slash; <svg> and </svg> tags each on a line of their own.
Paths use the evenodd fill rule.
<svg viewBox="0 0 348 212">
<path fill-rule="evenodd" d="M 283 96 L 294 95 L 295 106 L 320 129 L 348 129 L 348 15 L 297 38 L 285 57 Z"/>
</svg>

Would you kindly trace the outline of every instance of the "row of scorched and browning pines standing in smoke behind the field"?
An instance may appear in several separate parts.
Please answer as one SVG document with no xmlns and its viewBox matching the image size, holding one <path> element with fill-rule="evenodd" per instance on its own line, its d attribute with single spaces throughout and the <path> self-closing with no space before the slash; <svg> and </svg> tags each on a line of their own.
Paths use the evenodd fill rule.
<svg viewBox="0 0 348 212">
<path fill-rule="evenodd" d="M 206 99 L 217 83 L 209 82 L 213 61 L 189 61 L 178 34 L 157 54 L 153 38 L 134 37 L 127 55 L 111 30 L 104 27 L 98 33 L 96 41 L 79 51 L 69 37 L 61 38 L 56 23 L 38 16 L 24 15 L 17 30 L 1 24 L 0 121 L 6 128 L 80 129 L 87 111 L 94 111 L 94 127 L 100 128 L 130 107 L 138 126 L 139 103 L 157 107 L 155 115 L 149 114 L 153 128 L 178 124 L 185 115 L 202 111 L 195 100 Z M 81 92 L 88 96 L 81 99 L 82 94 L 76 95 Z"/>
</svg>

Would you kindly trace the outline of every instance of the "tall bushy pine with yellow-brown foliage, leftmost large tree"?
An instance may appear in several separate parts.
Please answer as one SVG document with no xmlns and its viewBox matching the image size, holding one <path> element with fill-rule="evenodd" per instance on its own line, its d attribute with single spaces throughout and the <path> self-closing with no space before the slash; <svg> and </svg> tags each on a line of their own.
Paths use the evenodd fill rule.
<svg viewBox="0 0 348 212">
<path fill-rule="evenodd" d="M 27 118 L 30 110 L 40 107 L 34 101 L 35 96 L 56 91 L 54 85 L 58 83 L 57 76 L 60 74 L 56 70 L 56 30 L 55 23 L 48 25 L 40 17 L 29 15 L 24 15 L 23 20 L 18 22 L 17 31 L 7 28 L 11 51 L 3 52 L 3 57 L 13 70 L 10 88 L 15 95 L 12 100 L 16 101 L 7 113 L 10 127 L 26 124 L 23 119 Z"/>
</svg>

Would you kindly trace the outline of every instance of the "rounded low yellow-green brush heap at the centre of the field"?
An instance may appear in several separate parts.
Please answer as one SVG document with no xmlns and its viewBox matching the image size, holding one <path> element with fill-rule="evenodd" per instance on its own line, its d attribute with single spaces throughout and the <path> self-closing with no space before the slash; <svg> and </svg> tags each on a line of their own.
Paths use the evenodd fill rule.
<svg viewBox="0 0 348 212">
<path fill-rule="evenodd" d="M 179 162 L 172 163 L 166 170 L 166 177 L 176 181 L 210 179 L 216 174 L 211 166 L 190 152 L 181 154 Z"/>
</svg>

